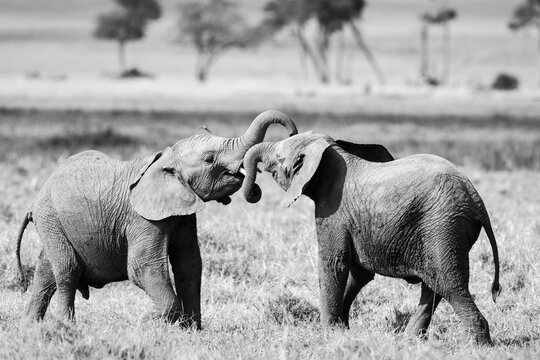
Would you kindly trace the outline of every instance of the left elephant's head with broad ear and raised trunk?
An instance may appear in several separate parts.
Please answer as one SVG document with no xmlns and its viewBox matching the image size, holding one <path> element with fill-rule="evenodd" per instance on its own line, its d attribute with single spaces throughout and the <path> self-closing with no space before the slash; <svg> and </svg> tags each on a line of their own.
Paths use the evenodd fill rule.
<svg viewBox="0 0 540 360">
<path fill-rule="evenodd" d="M 204 208 L 204 202 L 230 202 L 244 179 L 246 152 L 263 141 L 271 124 L 298 131 L 285 114 L 269 110 L 253 120 L 238 138 L 194 135 L 146 159 L 130 185 L 130 202 L 148 220 L 188 215 Z"/>
</svg>

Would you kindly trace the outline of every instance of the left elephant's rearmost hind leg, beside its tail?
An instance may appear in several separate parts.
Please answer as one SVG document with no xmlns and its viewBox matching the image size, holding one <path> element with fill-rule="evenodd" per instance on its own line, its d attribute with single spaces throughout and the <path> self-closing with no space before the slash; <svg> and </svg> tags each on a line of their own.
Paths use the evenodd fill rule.
<svg viewBox="0 0 540 360">
<path fill-rule="evenodd" d="M 34 273 L 32 295 L 26 308 L 27 317 L 35 321 L 42 320 L 55 291 L 56 280 L 54 279 L 52 266 L 42 250 Z"/>
</svg>

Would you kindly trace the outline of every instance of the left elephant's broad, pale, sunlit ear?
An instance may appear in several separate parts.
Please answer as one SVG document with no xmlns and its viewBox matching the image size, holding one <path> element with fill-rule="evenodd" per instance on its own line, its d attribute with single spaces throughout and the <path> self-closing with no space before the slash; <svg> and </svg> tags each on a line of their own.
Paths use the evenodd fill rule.
<svg viewBox="0 0 540 360">
<path fill-rule="evenodd" d="M 190 215 L 204 208 L 181 174 L 168 166 L 167 158 L 167 154 L 155 154 L 129 187 L 131 206 L 147 220 Z"/>
</svg>

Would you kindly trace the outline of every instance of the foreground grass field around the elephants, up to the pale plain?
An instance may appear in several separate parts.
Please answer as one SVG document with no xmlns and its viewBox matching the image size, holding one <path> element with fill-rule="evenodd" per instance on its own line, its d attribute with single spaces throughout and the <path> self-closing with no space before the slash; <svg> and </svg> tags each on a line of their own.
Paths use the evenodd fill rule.
<svg viewBox="0 0 540 360">
<path fill-rule="evenodd" d="M 370 358 L 531 359 L 540 356 L 540 122 L 534 118 L 331 115 L 293 112 L 300 131 L 383 143 L 397 157 L 418 152 L 458 164 L 482 195 L 495 228 L 503 293 L 490 296 L 491 250 L 484 234 L 473 248 L 471 292 L 491 326 L 493 347 L 476 347 L 450 306 L 437 309 L 427 341 L 403 328 L 420 289 L 376 277 L 358 296 L 351 329 L 319 325 L 312 204 L 279 208 L 281 190 L 261 176 L 263 199 L 240 194 L 228 206 L 207 204 L 199 218 L 203 256 L 203 330 L 142 321 L 151 303 L 128 282 L 77 295 L 76 324 L 21 320 L 28 293 L 14 284 L 14 240 L 21 217 L 58 162 L 94 148 L 140 157 L 198 133 L 237 136 L 249 112 L 0 113 L 0 358 Z M 269 139 L 284 134 L 271 131 Z M 33 226 L 23 242 L 31 272 L 40 244 Z"/>
</svg>

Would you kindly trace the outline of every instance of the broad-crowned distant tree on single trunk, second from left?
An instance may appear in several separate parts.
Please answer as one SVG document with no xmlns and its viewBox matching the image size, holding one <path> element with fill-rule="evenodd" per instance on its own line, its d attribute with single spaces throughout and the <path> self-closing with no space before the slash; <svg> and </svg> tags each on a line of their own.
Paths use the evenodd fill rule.
<svg viewBox="0 0 540 360">
<path fill-rule="evenodd" d="M 256 43 L 234 1 L 192 0 L 181 3 L 179 9 L 178 29 L 197 51 L 199 81 L 207 79 L 210 67 L 226 51 Z"/>
</svg>

